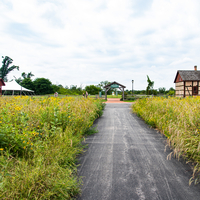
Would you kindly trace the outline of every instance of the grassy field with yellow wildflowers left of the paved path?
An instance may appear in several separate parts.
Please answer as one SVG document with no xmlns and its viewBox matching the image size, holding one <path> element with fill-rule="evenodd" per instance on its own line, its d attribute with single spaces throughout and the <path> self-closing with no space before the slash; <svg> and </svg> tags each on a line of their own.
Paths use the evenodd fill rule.
<svg viewBox="0 0 200 200">
<path fill-rule="evenodd" d="M 104 104 L 90 98 L 0 98 L 0 199 L 72 199 L 76 157 Z"/>
</svg>

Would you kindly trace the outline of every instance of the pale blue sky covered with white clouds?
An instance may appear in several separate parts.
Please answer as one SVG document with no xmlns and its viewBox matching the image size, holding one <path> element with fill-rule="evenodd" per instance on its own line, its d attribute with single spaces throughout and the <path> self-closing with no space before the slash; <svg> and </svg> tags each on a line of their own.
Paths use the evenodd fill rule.
<svg viewBox="0 0 200 200">
<path fill-rule="evenodd" d="M 199 0 L 0 0 L 0 56 L 64 87 L 175 87 L 200 69 Z M 2 59 L 2 58 L 1 58 Z"/>
</svg>

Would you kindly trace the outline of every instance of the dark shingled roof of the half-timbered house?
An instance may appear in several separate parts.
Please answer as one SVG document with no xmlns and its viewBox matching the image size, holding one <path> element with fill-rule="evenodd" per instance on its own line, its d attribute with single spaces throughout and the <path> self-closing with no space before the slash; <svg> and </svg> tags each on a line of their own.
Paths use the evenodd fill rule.
<svg viewBox="0 0 200 200">
<path fill-rule="evenodd" d="M 200 81 L 200 71 L 195 70 L 178 70 L 174 83 L 176 82 L 176 78 L 180 74 L 183 81 Z"/>
</svg>

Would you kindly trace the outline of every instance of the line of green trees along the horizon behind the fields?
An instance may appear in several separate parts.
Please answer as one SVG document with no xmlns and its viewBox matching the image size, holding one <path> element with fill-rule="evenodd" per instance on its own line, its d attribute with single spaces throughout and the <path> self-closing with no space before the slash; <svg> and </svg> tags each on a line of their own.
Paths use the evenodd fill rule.
<svg viewBox="0 0 200 200">
<path fill-rule="evenodd" d="M 8 81 L 8 74 L 13 71 L 13 70 L 19 70 L 19 66 L 12 65 L 13 60 L 5 56 L 3 57 L 2 61 L 2 67 L 0 68 L 0 78 L 4 80 L 4 82 Z M 58 92 L 58 94 L 62 95 L 82 95 L 86 91 L 90 95 L 96 95 L 99 94 L 99 92 L 105 94 L 104 91 L 104 86 L 110 84 L 111 82 L 109 81 L 101 81 L 98 85 L 88 85 L 85 88 L 82 88 L 82 86 L 77 86 L 77 85 L 71 85 L 70 87 L 68 86 L 62 86 L 62 85 L 56 85 L 52 84 L 52 82 L 49 79 L 46 78 L 36 78 L 35 80 L 32 80 L 32 77 L 34 74 L 32 72 L 25 73 L 23 72 L 21 74 L 21 77 L 16 78 L 15 81 L 21 85 L 22 87 L 25 87 L 29 90 L 33 90 L 35 94 L 37 95 L 45 95 L 45 94 L 53 94 L 55 92 Z M 149 76 L 147 75 L 147 88 L 146 90 L 134 90 L 134 94 L 147 94 L 147 95 L 157 95 L 157 94 L 168 94 L 168 95 L 173 95 L 174 94 L 174 89 L 170 88 L 169 90 L 166 90 L 164 87 L 159 88 L 158 90 L 153 89 L 154 86 L 154 81 L 151 81 Z M 112 92 L 115 92 L 116 94 L 117 89 L 116 88 L 111 88 L 108 91 L 108 95 L 112 94 Z M 126 94 L 132 94 L 132 90 L 126 90 Z M 118 94 L 121 94 L 121 91 L 118 91 Z"/>
</svg>

